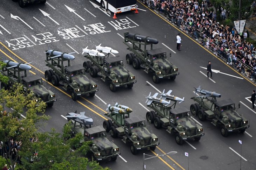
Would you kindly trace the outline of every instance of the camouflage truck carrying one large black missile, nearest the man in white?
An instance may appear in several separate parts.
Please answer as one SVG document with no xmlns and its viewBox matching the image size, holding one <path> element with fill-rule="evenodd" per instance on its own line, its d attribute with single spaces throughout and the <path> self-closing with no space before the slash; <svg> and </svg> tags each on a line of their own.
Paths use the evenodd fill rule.
<svg viewBox="0 0 256 170">
<path fill-rule="evenodd" d="M 127 50 L 133 52 L 126 55 L 126 62 L 133 64 L 134 69 L 141 68 L 146 73 L 151 73 L 154 83 L 159 83 L 159 80 L 164 78 L 175 80 L 179 75 L 178 68 L 168 61 L 166 52 L 162 48 L 153 49 L 153 44 L 157 44 L 158 40 L 124 32 L 123 43 L 128 46 Z M 141 45 L 144 45 L 144 48 Z M 147 50 L 147 45 L 150 45 L 150 50 Z M 169 55 L 171 57 L 171 52 Z"/>
</svg>

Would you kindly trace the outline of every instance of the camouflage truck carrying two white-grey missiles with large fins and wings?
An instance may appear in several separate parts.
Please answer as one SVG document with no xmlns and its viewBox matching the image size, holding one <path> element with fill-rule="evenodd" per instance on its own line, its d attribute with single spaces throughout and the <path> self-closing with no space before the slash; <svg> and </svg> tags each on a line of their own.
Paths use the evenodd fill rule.
<svg viewBox="0 0 256 170">
<path fill-rule="evenodd" d="M 203 128 L 194 122 L 189 114 L 189 110 L 185 107 L 175 108 L 177 101 L 184 101 L 184 98 L 174 97 L 170 95 L 171 90 L 167 93 L 161 93 L 161 101 L 147 98 L 147 107 L 154 111 L 149 111 L 146 114 L 147 121 L 154 123 L 155 128 L 163 128 L 170 134 L 175 134 L 175 141 L 177 144 L 182 145 L 183 140 L 199 141 L 201 136 L 204 135 Z M 156 93 L 158 95 L 158 93 Z M 155 95 L 155 97 L 157 96 Z M 162 102 L 169 99 L 174 103 L 170 106 L 164 105 Z M 149 100 L 149 101 L 148 101 Z M 172 108 L 173 107 L 173 108 Z"/>
</svg>

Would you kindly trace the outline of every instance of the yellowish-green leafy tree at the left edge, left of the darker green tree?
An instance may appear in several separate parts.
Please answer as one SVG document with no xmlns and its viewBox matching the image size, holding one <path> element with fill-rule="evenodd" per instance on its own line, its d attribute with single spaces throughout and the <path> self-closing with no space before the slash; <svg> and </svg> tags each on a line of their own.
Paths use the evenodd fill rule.
<svg viewBox="0 0 256 170">
<path fill-rule="evenodd" d="M 19 152 L 29 149 L 29 137 L 35 134 L 42 121 L 49 119 L 46 115 L 36 115 L 45 111 L 46 104 L 29 99 L 31 95 L 23 93 L 21 84 L 13 85 L 13 90 L 0 91 L 0 140 L 3 142 L 3 153 L 7 154 L 6 161 L 11 170 L 14 170 L 15 161 L 19 159 Z M 26 119 L 21 118 L 20 114 L 26 115 Z M 14 143 L 21 141 L 20 151 L 12 148 L 11 139 Z"/>
</svg>

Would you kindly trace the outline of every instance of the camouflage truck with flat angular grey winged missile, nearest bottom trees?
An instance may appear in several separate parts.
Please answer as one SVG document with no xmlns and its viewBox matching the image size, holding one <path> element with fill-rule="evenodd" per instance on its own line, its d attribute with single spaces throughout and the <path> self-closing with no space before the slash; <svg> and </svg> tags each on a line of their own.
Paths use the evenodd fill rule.
<svg viewBox="0 0 256 170">
<path fill-rule="evenodd" d="M 108 140 L 106 130 L 102 126 L 92 127 L 93 119 L 85 116 L 85 112 L 80 112 L 80 114 L 67 113 L 66 118 L 71 121 L 71 137 L 81 133 L 84 136 L 84 139 L 80 141 L 81 143 L 92 141 L 89 150 L 92 161 L 115 161 L 117 156 L 121 154 L 120 149 Z"/>
</svg>

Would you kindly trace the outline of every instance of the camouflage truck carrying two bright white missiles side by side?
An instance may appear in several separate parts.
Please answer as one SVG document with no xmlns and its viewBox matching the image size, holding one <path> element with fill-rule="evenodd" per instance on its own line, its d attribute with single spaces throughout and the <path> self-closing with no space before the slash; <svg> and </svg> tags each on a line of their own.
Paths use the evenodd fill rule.
<svg viewBox="0 0 256 170">
<path fill-rule="evenodd" d="M 100 44 L 101 45 L 101 44 Z M 126 86 L 132 88 L 136 83 L 135 76 L 124 68 L 123 60 L 119 56 L 109 57 L 110 53 L 118 53 L 110 47 L 96 46 L 97 50 L 89 50 L 87 47 L 83 49 L 84 56 L 90 61 L 83 62 L 86 71 L 90 72 L 92 77 L 100 77 L 103 82 L 109 84 L 109 89 L 112 92 L 116 91 L 116 87 Z M 102 52 L 108 53 L 107 55 Z"/>
</svg>

